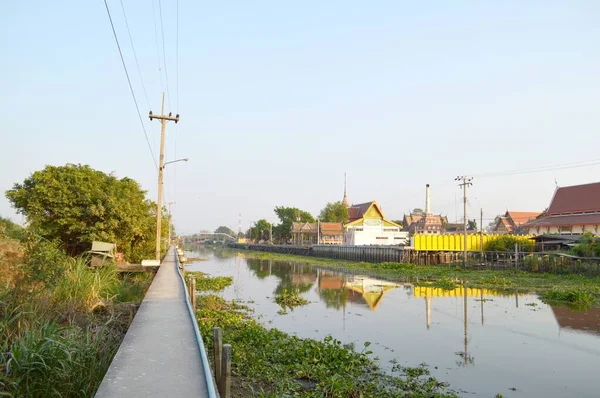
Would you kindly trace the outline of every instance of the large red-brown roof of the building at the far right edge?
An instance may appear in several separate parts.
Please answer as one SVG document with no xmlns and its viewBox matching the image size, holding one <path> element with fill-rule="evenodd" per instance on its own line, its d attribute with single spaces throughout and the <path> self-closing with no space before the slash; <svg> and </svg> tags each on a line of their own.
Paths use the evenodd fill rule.
<svg viewBox="0 0 600 398">
<path fill-rule="evenodd" d="M 548 214 L 600 211 L 600 182 L 556 190 Z"/>
</svg>

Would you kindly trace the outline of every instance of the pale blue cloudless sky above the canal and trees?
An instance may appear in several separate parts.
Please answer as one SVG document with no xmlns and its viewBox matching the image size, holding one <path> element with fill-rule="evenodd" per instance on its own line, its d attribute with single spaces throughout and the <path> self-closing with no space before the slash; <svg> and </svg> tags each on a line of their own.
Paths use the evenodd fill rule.
<svg viewBox="0 0 600 398">
<path fill-rule="evenodd" d="M 344 172 L 350 202 L 390 219 L 423 208 L 427 183 L 432 210 L 461 219 L 454 178 L 474 176 L 467 217 L 484 224 L 600 181 L 600 165 L 485 176 L 600 161 L 596 1 L 123 0 L 133 47 L 108 6 L 155 157 L 161 92 L 181 115 L 165 158 L 190 160 L 164 185 L 180 233 L 245 230 L 275 206 L 316 215 Z M 104 2 L 8 2 L 0 35 L 0 190 L 81 163 L 155 199 Z M 4 195 L 0 215 L 24 221 Z"/>
</svg>

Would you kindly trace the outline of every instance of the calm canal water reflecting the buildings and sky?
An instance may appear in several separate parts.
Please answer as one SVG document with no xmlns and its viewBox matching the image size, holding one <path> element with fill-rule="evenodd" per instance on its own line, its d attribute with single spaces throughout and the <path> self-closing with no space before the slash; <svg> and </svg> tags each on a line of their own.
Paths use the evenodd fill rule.
<svg viewBox="0 0 600 398">
<path fill-rule="evenodd" d="M 243 253 L 188 256 L 207 259 L 189 271 L 232 276 L 220 294 L 245 302 L 265 326 L 357 348 L 370 341 L 383 368 L 426 363 L 461 396 L 600 396 L 600 308 L 577 312 L 535 294 L 445 291 Z M 311 303 L 282 314 L 273 299 L 284 290 Z"/>
</svg>

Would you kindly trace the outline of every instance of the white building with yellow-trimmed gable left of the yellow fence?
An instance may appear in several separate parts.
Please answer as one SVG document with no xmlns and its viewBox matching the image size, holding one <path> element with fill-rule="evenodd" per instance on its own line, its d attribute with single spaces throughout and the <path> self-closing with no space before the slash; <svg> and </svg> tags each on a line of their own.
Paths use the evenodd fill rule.
<svg viewBox="0 0 600 398">
<path fill-rule="evenodd" d="M 344 225 L 345 245 L 408 244 L 408 232 L 400 232 L 400 225 L 385 218 L 376 201 L 350 206 L 348 218 Z"/>
</svg>

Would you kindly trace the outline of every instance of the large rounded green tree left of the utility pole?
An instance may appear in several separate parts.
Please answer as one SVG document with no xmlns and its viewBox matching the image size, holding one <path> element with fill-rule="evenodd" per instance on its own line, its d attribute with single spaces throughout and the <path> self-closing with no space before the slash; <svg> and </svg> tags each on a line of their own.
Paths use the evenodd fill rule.
<svg viewBox="0 0 600 398">
<path fill-rule="evenodd" d="M 156 205 L 131 178 L 117 178 L 86 165 L 46 166 L 6 197 L 25 215 L 32 231 L 58 240 L 71 254 L 90 249 L 94 240 L 113 242 L 129 261 L 151 257 Z M 163 209 L 162 235 L 169 217 Z"/>
</svg>

